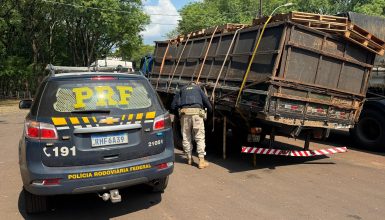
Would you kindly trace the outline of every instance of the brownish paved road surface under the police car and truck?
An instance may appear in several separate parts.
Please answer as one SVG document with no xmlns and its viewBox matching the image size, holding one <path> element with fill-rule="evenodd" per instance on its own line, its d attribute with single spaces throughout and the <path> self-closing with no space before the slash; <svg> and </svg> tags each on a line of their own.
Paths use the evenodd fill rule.
<svg viewBox="0 0 385 220">
<path fill-rule="evenodd" d="M 11 114 L 12 113 L 12 114 Z M 1 219 L 383 219 L 385 157 L 350 150 L 331 158 L 209 157 L 205 170 L 188 166 L 176 150 L 175 172 L 164 194 L 144 186 L 123 191 L 123 202 L 105 203 L 96 195 L 66 196 L 55 209 L 27 216 L 23 210 L 17 145 L 25 111 L 0 115 Z M 300 146 L 301 141 L 278 141 Z M 333 143 L 349 144 L 346 135 Z M 327 147 L 322 143 L 313 147 Z"/>
</svg>

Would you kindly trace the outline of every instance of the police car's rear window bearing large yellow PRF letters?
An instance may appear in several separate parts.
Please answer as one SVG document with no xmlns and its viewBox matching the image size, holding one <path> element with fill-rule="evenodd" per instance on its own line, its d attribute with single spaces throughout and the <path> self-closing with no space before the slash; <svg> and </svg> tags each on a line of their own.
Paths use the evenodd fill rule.
<svg viewBox="0 0 385 220">
<path fill-rule="evenodd" d="M 39 115 L 88 110 L 110 110 L 115 113 L 137 109 L 157 110 L 159 104 L 152 92 L 142 80 L 51 81 L 43 94 Z"/>
</svg>

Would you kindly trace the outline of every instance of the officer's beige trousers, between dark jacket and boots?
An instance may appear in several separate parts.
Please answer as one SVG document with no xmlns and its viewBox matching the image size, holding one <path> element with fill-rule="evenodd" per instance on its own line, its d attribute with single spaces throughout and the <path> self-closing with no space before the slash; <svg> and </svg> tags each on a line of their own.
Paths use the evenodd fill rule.
<svg viewBox="0 0 385 220">
<path fill-rule="evenodd" d="M 192 137 L 194 136 L 197 144 L 197 153 L 199 157 L 206 155 L 205 148 L 205 124 L 203 118 L 199 115 L 182 115 L 181 127 L 183 137 L 183 150 L 186 155 L 191 156 L 193 145 Z"/>
</svg>

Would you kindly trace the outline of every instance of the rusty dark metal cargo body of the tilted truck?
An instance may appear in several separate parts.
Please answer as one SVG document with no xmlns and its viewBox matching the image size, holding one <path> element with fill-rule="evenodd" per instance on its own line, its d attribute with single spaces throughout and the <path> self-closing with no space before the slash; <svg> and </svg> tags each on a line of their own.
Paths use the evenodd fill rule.
<svg viewBox="0 0 385 220">
<path fill-rule="evenodd" d="M 227 116 L 239 127 L 292 135 L 352 127 L 375 54 L 342 37 L 274 22 L 267 25 L 244 79 L 261 30 L 257 25 L 156 42 L 149 80 L 166 107 L 178 88 L 198 80 L 214 103 L 216 117 Z M 243 80 L 246 86 L 241 88 Z"/>
</svg>

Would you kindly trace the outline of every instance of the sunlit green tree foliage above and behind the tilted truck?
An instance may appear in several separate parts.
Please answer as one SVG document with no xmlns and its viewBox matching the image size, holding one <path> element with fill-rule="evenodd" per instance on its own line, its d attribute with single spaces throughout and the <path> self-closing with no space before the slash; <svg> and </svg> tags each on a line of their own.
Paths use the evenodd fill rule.
<svg viewBox="0 0 385 220">
<path fill-rule="evenodd" d="M 263 14 L 269 15 L 287 2 L 293 6 L 280 8 L 276 13 L 304 11 L 338 14 L 348 11 L 385 16 L 385 0 L 263 0 Z M 194 30 L 224 23 L 250 23 L 258 15 L 259 0 L 203 0 L 192 2 L 180 10 L 181 20 L 173 33 Z"/>
</svg>

